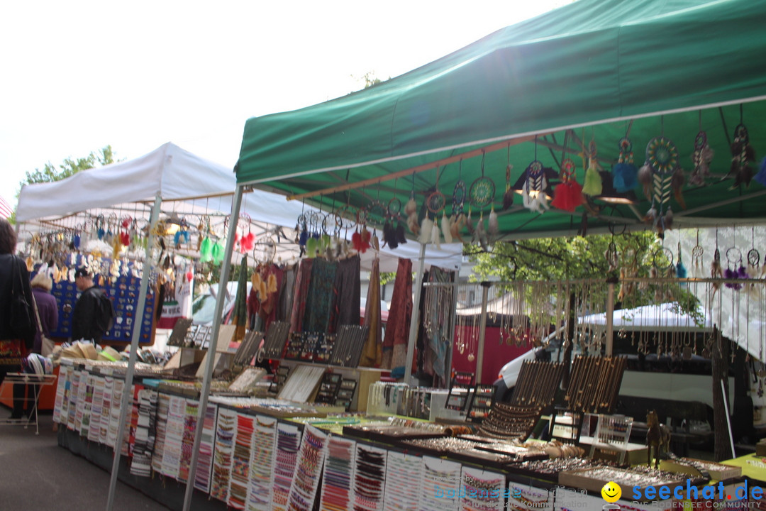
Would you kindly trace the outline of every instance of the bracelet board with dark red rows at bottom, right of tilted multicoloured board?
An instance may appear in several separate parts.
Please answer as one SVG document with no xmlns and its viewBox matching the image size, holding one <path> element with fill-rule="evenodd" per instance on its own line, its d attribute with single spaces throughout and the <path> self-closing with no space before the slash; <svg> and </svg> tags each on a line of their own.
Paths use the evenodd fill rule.
<svg viewBox="0 0 766 511">
<path fill-rule="evenodd" d="M 329 437 L 319 511 L 354 509 L 351 482 L 354 477 L 355 455 L 355 441 L 343 437 Z"/>
</svg>

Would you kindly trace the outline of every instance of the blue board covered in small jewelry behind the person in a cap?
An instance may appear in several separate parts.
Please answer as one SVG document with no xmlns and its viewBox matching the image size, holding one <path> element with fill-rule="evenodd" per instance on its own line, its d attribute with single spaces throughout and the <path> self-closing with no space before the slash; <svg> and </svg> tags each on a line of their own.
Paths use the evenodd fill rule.
<svg viewBox="0 0 766 511">
<path fill-rule="evenodd" d="M 104 285 L 101 286 L 112 300 L 116 313 L 114 326 L 104 334 L 102 342 L 110 344 L 129 343 L 133 339 L 133 328 L 139 325 L 141 329 L 139 345 L 152 346 L 155 333 L 156 293 L 154 287 L 150 285 L 146 292 L 144 310 L 139 311 L 137 307 L 141 279 L 133 275 L 133 263 L 127 264 L 127 272 L 120 272 L 119 277 L 114 282 L 106 279 Z M 103 260 L 102 267 L 110 267 L 110 265 L 110 260 Z M 94 282 L 97 280 L 99 280 L 98 276 L 93 279 Z M 74 304 L 77 303 L 80 292 L 74 282 L 61 280 L 59 283 L 54 282 L 51 294 L 56 297 L 58 304 L 58 326 L 53 332 L 50 332 L 51 337 L 68 338 L 72 330 Z"/>
</svg>

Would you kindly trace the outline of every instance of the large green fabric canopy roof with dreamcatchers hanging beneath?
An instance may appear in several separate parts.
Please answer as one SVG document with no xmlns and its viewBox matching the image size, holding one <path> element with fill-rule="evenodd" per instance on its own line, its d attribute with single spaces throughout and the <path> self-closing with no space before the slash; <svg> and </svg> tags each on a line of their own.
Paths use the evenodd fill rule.
<svg viewBox="0 0 766 511">
<path fill-rule="evenodd" d="M 715 151 L 713 177 L 684 187 L 686 210 L 670 200 L 676 225 L 762 219 L 766 189 L 754 180 L 730 190 L 732 179 L 722 178 L 738 124 L 758 162 L 766 155 L 764 19 L 766 2 L 578 0 L 366 90 L 248 120 L 237 182 L 286 195 L 324 191 L 310 200 L 326 211 L 404 201 L 413 190 L 420 204 L 437 187 L 439 166 L 447 212 L 456 183 L 470 189 L 482 172 L 496 184 L 499 210 L 508 163 L 513 184 L 535 157 L 558 172 L 568 156 L 582 184 L 582 147 L 593 140 L 609 171 L 628 133 L 639 166 L 651 139 L 671 139 L 688 177 L 703 130 Z M 401 177 L 389 179 L 395 172 Z M 508 237 L 573 234 L 588 211 L 591 231 L 614 222 L 645 228 L 650 202 L 636 193 L 638 205 L 594 201 L 575 214 L 542 215 L 516 195 L 500 227 Z"/>
</svg>

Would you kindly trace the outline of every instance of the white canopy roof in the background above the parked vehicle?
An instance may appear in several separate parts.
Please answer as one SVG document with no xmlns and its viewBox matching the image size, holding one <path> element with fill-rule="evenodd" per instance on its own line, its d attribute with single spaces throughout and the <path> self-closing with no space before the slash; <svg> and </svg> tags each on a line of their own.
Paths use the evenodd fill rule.
<svg viewBox="0 0 766 511">
<path fill-rule="evenodd" d="M 703 326 L 697 325 L 694 318 L 681 313 L 677 303 L 645 305 L 635 309 L 615 310 L 613 314 L 614 330 L 654 330 L 657 332 L 689 332 L 689 330 L 709 331 L 712 329 L 709 317 L 702 308 L 699 313 L 705 318 Z M 594 328 L 606 328 L 606 313 L 590 314 L 578 318 L 578 324 Z"/>
</svg>

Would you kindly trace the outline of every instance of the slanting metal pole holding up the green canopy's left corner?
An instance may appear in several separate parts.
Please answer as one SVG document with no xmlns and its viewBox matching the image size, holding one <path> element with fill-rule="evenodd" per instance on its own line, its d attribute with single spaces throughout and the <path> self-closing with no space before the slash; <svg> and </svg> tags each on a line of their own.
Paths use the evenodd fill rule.
<svg viewBox="0 0 766 511">
<path fill-rule="evenodd" d="M 242 186 L 237 186 L 237 192 L 234 194 L 234 205 L 231 208 L 231 221 L 229 222 L 229 231 L 226 238 L 226 251 L 224 252 L 224 264 L 221 267 L 221 280 L 218 281 L 218 296 L 215 299 L 215 312 L 213 316 L 213 331 L 211 332 L 210 342 L 208 343 L 208 355 L 205 361 L 205 376 L 202 379 L 202 390 L 199 397 L 199 410 L 197 412 L 197 427 L 194 434 L 194 446 L 191 448 L 191 460 L 189 461 L 189 476 L 186 481 L 186 492 L 184 493 L 183 511 L 188 511 L 191 506 L 191 496 L 194 494 L 194 483 L 197 477 L 197 458 L 199 457 L 199 444 L 202 441 L 202 425 L 205 421 L 205 412 L 208 409 L 208 394 L 210 394 L 210 381 L 213 378 L 213 367 L 215 360 L 215 346 L 218 346 L 218 332 L 221 329 L 221 319 L 224 315 L 224 302 L 226 301 L 225 290 L 229 281 L 229 270 L 231 270 L 231 253 L 234 252 L 234 234 L 237 232 L 237 221 L 239 220 L 239 211 L 242 204 Z"/>
</svg>

